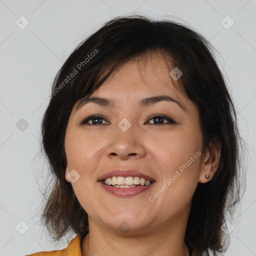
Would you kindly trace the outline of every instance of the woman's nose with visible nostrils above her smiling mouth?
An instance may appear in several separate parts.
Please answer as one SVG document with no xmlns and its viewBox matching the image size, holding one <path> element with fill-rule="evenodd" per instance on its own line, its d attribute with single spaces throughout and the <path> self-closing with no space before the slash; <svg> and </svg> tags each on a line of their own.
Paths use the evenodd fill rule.
<svg viewBox="0 0 256 256">
<path fill-rule="evenodd" d="M 107 157 L 121 160 L 144 157 L 146 145 L 140 137 L 131 128 L 118 130 L 106 146 Z"/>
</svg>

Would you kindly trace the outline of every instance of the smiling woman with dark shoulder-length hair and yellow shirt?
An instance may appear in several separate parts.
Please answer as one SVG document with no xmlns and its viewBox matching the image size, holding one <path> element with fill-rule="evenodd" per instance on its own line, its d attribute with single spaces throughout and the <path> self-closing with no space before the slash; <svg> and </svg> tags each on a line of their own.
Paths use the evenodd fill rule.
<svg viewBox="0 0 256 256">
<path fill-rule="evenodd" d="M 242 139 L 212 46 L 191 28 L 106 22 L 58 71 L 42 137 L 54 175 L 42 223 L 55 240 L 77 234 L 51 255 L 226 250 Z"/>
</svg>

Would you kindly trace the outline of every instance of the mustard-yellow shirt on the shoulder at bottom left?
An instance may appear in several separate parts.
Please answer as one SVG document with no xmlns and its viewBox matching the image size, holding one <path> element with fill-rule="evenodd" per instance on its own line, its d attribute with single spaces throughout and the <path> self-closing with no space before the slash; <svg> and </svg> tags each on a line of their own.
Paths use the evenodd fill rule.
<svg viewBox="0 0 256 256">
<path fill-rule="evenodd" d="M 35 252 L 26 256 L 82 256 L 80 243 L 81 243 L 81 236 L 78 233 L 68 243 L 65 249 Z"/>
</svg>

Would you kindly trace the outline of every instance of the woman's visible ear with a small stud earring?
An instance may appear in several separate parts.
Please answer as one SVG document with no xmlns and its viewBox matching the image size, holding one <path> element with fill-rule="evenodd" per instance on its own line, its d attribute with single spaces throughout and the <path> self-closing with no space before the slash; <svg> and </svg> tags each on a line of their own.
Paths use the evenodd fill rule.
<svg viewBox="0 0 256 256">
<path fill-rule="evenodd" d="M 206 149 L 204 159 L 201 165 L 201 173 L 199 176 L 199 182 L 205 183 L 209 181 L 215 174 L 220 158 L 220 142 L 214 137 L 209 141 L 208 148 Z M 210 174 L 210 178 L 205 177 L 206 174 Z"/>
</svg>

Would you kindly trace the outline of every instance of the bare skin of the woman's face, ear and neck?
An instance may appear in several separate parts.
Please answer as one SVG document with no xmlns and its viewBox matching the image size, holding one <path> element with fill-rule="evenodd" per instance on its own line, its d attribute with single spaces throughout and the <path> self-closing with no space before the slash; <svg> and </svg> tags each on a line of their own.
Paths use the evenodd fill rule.
<svg viewBox="0 0 256 256">
<path fill-rule="evenodd" d="M 89 234 L 82 241 L 82 256 L 189 255 L 184 234 L 192 195 L 198 182 L 208 181 L 205 174 L 214 175 L 220 152 L 212 147 L 201 153 L 158 198 L 149 200 L 182 164 L 202 152 L 198 109 L 174 90 L 169 72 L 160 54 L 146 61 L 132 59 L 92 94 L 113 99 L 114 106 L 90 102 L 75 111 L 76 102 L 71 111 L 65 134 L 65 178 L 70 182 L 67 174 L 72 169 L 80 175 L 71 184 L 88 213 Z M 169 101 L 138 107 L 141 98 L 163 94 L 186 110 Z M 102 115 L 101 124 L 79 125 L 91 114 Z M 164 114 L 177 123 L 163 119 L 164 124 L 156 125 L 157 120 L 148 119 L 154 114 Z M 127 131 L 118 126 L 123 118 L 131 123 Z M 156 182 L 135 196 L 117 197 L 106 192 L 98 178 L 118 168 L 136 169 Z M 125 233 L 119 229 L 123 221 L 129 228 Z"/>
</svg>

